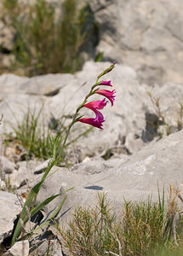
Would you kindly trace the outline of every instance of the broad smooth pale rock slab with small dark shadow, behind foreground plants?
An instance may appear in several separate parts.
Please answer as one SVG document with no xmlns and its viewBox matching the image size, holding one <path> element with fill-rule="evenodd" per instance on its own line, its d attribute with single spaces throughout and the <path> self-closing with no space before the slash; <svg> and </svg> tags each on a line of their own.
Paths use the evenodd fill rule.
<svg viewBox="0 0 183 256">
<path fill-rule="evenodd" d="M 116 212 L 120 212 L 123 198 L 140 201 L 152 195 L 152 201 L 157 201 L 157 185 L 160 195 L 164 187 L 167 196 L 169 185 L 181 190 L 182 150 L 183 131 L 179 131 L 142 148 L 129 159 L 96 160 L 73 166 L 70 171 L 60 168 L 43 184 L 37 203 L 74 187 L 66 193 L 67 199 L 60 213 L 67 218 L 76 206 L 92 206 L 97 191 L 107 194 Z M 64 195 L 52 201 L 44 211 L 52 212 Z"/>
</svg>

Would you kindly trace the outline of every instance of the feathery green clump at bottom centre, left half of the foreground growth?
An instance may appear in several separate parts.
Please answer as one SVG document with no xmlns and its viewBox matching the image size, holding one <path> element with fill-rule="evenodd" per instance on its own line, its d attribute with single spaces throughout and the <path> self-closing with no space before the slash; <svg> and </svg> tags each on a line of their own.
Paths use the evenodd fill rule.
<svg viewBox="0 0 183 256">
<path fill-rule="evenodd" d="M 57 230 L 63 236 L 65 246 L 72 255 L 105 255 L 114 247 L 117 252 L 116 220 L 106 200 L 106 195 L 98 194 L 94 208 L 78 207 L 65 231 L 59 225 Z"/>
</svg>

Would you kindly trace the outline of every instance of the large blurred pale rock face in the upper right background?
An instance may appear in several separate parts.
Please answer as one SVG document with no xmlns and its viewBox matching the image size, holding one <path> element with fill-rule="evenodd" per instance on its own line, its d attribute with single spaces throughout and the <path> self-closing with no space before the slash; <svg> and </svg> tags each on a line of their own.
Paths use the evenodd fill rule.
<svg viewBox="0 0 183 256">
<path fill-rule="evenodd" d="M 97 51 L 124 63 L 146 84 L 182 84 L 183 3 L 175 1 L 89 1 L 99 28 Z"/>
</svg>

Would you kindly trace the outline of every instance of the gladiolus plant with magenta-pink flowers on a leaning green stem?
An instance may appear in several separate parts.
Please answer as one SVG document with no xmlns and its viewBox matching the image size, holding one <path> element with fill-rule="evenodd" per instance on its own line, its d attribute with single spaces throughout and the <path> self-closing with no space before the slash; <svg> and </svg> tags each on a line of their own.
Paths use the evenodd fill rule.
<svg viewBox="0 0 183 256">
<path fill-rule="evenodd" d="M 105 119 L 104 119 L 103 114 L 100 112 L 100 110 L 102 110 L 103 108 L 106 107 L 106 103 L 107 103 L 106 99 L 108 99 L 111 102 L 112 106 L 113 106 L 113 102 L 114 102 L 114 99 L 115 99 L 114 94 L 116 93 L 116 90 L 100 89 L 101 85 L 112 87 L 112 82 L 111 81 L 103 81 L 103 80 L 100 80 L 100 78 L 103 75 L 105 75 L 106 73 L 111 72 L 112 69 L 115 67 L 115 64 L 116 64 L 116 62 L 112 63 L 112 65 L 109 68 L 107 68 L 104 72 L 100 73 L 100 75 L 98 76 L 98 78 L 96 80 L 96 83 L 91 87 L 91 89 L 89 91 L 89 94 L 85 97 L 85 99 L 83 100 L 83 103 L 77 108 L 76 113 L 74 114 L 73 119 L 71 121 L 71 124 L 67 128 L 66 137 L 64 139 L 64 142 L 62 143 L 61 147 L 59 148 L 59 150 L 58 150 L 59 152 L 57 152 L 58 154 L 53 154 L 53 158 L 49 161 L 49 166 L 46 169 L 46 171 L 44 172 L 41 181 L 39 183 L 37 183 L 31 189 L 29 195 L 27 195 L 26 202 L 25 202 L 24 207 L 23 207 L 23 209 L 20 213 L 19 221 L 16 224 L 16 227 L 14 229 L 14 235 L 13 235 L 13 238 L 12 238 L 12 241 L 11 241 L 11 246 L 13 246 L 14 242 L 17 241 L 18 236 L 20 236 L 21 230 L 23 230 L 24 225 L 29 220 L 29 218 L 34 216 L 39 210 L 41 210 L 44 206 L 46 206 L 50 201 L 53 201 L 54 198 L 56 198 L 57 196 L 60 195 L 60 194 L 52 195 L 49 198 L 47 198 L 46 200 L 44 200 L 43 202 L 41 202 L 40 204 L 38 204 L 37 207 L 35 207 L 37 194 L 38 194 L 39 190 L 41 189 L 41 187 L 43 185 L 43 182 L 48 177 L 49 172 L 51 171 L 52 167 L 58 165 L 58 163 L 62 159 L 63 150 L 66 146 L 66 141 L 67 141 L 67 138 L 68 138 L 69 133 L 71 131 L 72 125 L 74 125 L 76 122 L 81 122 L 81 123 L 84 123 L 84 124 L 92 125 L 92 126 L 94 126 L 96 128 L 99 128 L 99 129 L 103 129 L 102 125 L 105 122 Z M 94 94 L 104 96 L 105 98 L 101 101 L 88 102 L 89 97 L 93 96 Z M 92 110 L 95 114 L 95 117 L 94 118 L 88 118 L 88 117 L 79 116 L 78 113 L 82 108 L 89 108 L 89 110 Z M 57 148 L 56 147 L 56 142 L 55 142 L 55 148 Z M 62 201 L 62 203 L 60 204 L 60 206 L 57 207 L 56 211 L 54 212 L 54 214 L 51 216 L 50 219 L 54 218 L 54 216 L 56 216 L 56 214 L 60 211 L 60 209 L 61 209 L 65 200 L 66 200 L 66 196 L 65 196 L 64 200 Z M 45 223 L 43 223 L 38 228 L 42 228 L 43 225 L 48 224 L 48 222 L 49 222 L 49 220 L 46 221 Z M 31 231 L 31 232 L 33 232 L 33 231 Z"/>
</svg>

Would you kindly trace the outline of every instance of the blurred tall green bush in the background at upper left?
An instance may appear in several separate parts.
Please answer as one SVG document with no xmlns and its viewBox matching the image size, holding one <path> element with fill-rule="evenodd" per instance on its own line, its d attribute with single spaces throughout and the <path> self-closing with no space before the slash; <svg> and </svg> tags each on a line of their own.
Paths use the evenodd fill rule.
<svg viewBox="0 0 183 256">
<path fill-rule="evenodd" d="M 87 6 L 78 9 L 77 0 L 65 0 L 61 9 L 46 0 L 3 0 L 3 8 L 4 20 L 14 27 L 14 71 L 23 68 L 31 76 L 73 73 L 81 67 L 82 46 L 94 29 Z"/>
</svg>

